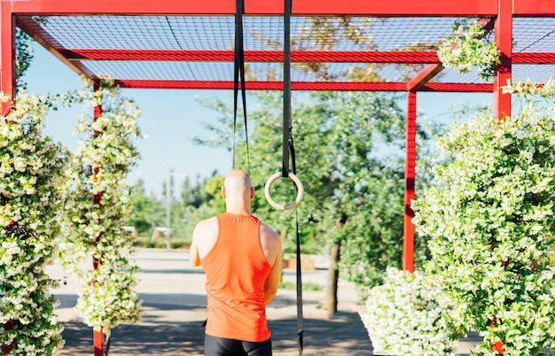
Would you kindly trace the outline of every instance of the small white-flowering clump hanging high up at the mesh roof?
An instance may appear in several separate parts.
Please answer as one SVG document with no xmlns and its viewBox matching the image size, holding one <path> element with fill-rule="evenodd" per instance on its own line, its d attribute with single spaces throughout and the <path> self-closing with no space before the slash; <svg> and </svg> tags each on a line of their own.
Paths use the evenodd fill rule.
<svg viewBox="0 0 555 356">
<path fill-rule="evenodd" d="M 486 39 L 483 21 L 488 20 L 476 20 L 470 26 L 465 22 L 456 22 L 453 36 L 443 39 L 437 50 L 442 65 L 458 73 L 468 73 L 477 67 L 481 79 L 490 80 L 501 61 L 496 43 Z"/>
</svg>

